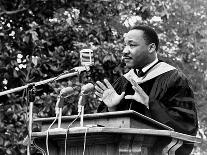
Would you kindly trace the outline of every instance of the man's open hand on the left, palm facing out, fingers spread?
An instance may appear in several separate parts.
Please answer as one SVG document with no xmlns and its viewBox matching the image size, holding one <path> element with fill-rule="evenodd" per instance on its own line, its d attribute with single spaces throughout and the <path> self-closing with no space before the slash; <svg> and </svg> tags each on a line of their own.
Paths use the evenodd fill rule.
<svg viewBox="0 0 207 155">
<path fill-rule="evenodd" d="M 121 95 L 119 95 L 108 80 L 104 79 L 104 83 L 100 81 L 96 82 L 95 94 L 101 98 L 107 107 L 115 107 L 124 98 L 125 92 L 122 92 Z"/>
</svg>

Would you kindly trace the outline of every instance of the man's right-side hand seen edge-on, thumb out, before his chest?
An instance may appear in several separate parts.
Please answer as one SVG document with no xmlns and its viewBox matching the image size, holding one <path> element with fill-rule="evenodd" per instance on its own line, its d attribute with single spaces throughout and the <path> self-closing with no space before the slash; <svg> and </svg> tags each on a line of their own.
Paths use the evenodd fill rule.
<svg viewBox="0 0 207 155">
<path fill-rule="evenodd" d="M 144 90 L 133 80 L 130 80 L 132 83 L 132 88 L 135 90 L 134 95 L 126 95 L 125 99 L 133 99 L 137 102 L 144 104 L 149 108 L 149 96 L 144 92 Z"/>
</svg>

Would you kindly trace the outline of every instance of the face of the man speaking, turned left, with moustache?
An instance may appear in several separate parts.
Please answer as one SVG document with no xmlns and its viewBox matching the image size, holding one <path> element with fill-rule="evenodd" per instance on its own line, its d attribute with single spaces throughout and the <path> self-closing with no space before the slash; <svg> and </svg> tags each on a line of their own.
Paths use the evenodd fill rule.
<svg viewBox="0 0 207 155">
<path fill-rule="evenodd" d="M 123 59 L 129 68 L 141 68 L 148 61 L 148 45 L 142 30 L 131 30 L 124 36 Z"/>
</svg>

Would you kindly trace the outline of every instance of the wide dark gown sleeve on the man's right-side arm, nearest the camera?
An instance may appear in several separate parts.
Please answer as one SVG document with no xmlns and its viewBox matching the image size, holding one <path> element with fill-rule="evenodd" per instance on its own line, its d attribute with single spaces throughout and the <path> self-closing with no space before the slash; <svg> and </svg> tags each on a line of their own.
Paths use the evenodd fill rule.
<svg viewBox="0 0 207 155">
<path fill-rule="evenodd" d="M 175 131 L 195 135 L 198 129 L 196 103 L 187 78 L 178 70 L 159 76 L 149 100 L 151 117 Z"/>
</svg>

